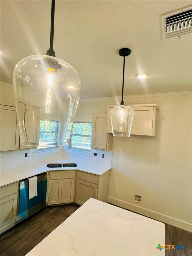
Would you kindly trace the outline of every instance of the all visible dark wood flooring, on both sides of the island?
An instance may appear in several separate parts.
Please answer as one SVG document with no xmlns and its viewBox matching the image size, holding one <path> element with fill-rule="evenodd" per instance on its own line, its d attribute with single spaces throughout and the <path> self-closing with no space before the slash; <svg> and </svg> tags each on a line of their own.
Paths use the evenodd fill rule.
<svg viewBox="0 0 192 256">
<path fill-rule="evenodd" d="M 24 256 L 79 206 L 46 207 L 0 237 L 1 256 Z M 166 256 L 192 256 L 192 233 L 166 224 L 166 244 L 185 244 L 186 250 L 167 250 Z"/>
</svg>

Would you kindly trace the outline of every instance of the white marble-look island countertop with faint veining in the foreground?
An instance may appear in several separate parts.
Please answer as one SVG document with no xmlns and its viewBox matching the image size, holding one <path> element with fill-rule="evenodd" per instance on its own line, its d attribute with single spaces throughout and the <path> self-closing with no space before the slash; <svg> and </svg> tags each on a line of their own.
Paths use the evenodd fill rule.
<svg viewBox="0 0 192 256">
<path fill-rule="evenodd" d="M 165 224 L 91 198 L 26 255 L 164 256 L 158 244 Z"/>
</svg>

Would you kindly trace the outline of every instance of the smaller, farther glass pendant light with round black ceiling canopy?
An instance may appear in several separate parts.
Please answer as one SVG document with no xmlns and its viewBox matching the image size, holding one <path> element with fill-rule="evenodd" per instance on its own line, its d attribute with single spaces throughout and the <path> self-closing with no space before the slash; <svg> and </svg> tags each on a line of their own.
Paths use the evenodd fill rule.
<svg viewBox="0 0 192 256">
<path fill-rule="evenodd" d="M 131 50 L 123 48 L 119 50 L 119 55 L 123 57 L 123 83 L 122 83 L 122 99 L 119 106 L 115 106 L 111 110 L 111 126 L 113 136 L 117 137 L 130 137 L 131 128 L 134 117 L 134 110 L 125 105 L 123 102 L 124 90 L 124 73 L 125 73 L 125 57 L 130 55 Z"/>
</svg>

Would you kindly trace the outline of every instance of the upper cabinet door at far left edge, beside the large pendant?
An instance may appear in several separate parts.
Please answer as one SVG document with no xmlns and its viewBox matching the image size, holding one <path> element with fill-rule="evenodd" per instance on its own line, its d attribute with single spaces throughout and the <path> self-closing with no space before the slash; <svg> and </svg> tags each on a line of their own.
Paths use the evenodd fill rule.
<svg viewBox="0 0 192 256">
<path fill-rule="evenodd" d="M 19 148 L 19 127 L 15 107 L 0 106 L 0 150 L 15 150 Z"/>
</svg>

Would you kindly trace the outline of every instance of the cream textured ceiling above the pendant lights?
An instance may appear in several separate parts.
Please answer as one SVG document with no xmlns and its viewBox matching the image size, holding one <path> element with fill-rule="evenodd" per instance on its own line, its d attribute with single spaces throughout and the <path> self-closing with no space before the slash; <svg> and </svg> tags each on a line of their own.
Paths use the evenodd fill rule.
<svg viewBox="0 0 192 256">
<path fill-rule="evenodd" d="M 12 83 L 16 63 L 49 48 L 51 1 L 1 0 L 1 80 Z M 56 56 L 69 62 L 82 80 L 82 98 L 191 90 L 191 34 L 161 40 L 161 15 L 191 1 L 56 1 Z M 135 74 L 149 73 L 145 80 Z"/>
</svg>

